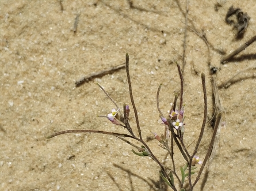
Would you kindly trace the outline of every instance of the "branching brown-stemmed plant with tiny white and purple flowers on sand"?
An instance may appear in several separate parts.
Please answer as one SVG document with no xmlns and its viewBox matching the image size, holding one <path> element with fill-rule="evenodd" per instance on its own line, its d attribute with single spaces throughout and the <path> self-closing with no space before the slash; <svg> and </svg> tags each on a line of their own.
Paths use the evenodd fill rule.
<svg viewBox="0 0 256 191">
<path fill-rule="evenodd" d="M 195 187 L 195 184 L 197 184 L 197 182 L 203 172 L 203 169 L 206 165 L 206 162 L 210 156 L 211 150 L 214 145 L 214 138 L 216 136 L 218 125 L 220 123 L 222 114 L 221 114 L 221 112 L 219 112 L 217 114 L 214 131 L 213 131 L 213 135 L 210 140 L 209 148 L 207 150 L 204 160 L 200 161 L 199 157 L 196 156 L 196 154 L 197 154 L 200 142 L 203 138 L 203 132 L 204 132 L 204 129 L 206 126 L 207 97 L 206 97 L 205 75 L 203 73 L 201 75 L 202 84 L 203 84 L 203 95 L 204 95 L 203 123 L 201 126 L 199 138 L 195 144 L 195 148 L 192 153 L 189 153 L 186 146 L 184 145 L 184 142 L 183 142 L 183 135 L 185 132 L 185 124 L 184 124 L 184 119 L 185 119 L 184 106 L 185 105 L 183 105 L 183 76 L 181 73 L 180 65 L 177 62 L 176 62 L 176 64 L 177 64 L 177 68 L 178 68 L 179 75 L 180 75 L 180 93 L 175 95 L 174 103 L 172 105 L 172 108 L 170 109 L 171 112 L 169 113 L 169 115 L 167 117 L 165 117 L 159 107 L 159 93 L 160 93 L 160 88 L 162 86 L 162 84 L 160 84 L 160 86 L 157 90 L 157 109 L 158 109 L 158 112 L 160 113 L 159 114 L 160 119 L 162 120 L 163 124 L 165 125 L 164 135 L 159 136 L 159 135 L 157 135 L 157 133 L 152 132 L 155 139 L 157 139 L 158 142 L 160 142 L 160 146 L 163 149 L 168 151 L 168 154 L 170 155 L 171 160 L 172 160 L 172 168 L 169 168 L 169 167 L 165 166 L 164 164 L 162 164 L 159 161 L 159 159 L 153 154 L 152 150 L 149 148 L 149 146 L 147 145 L 145 140 L 142 138 L 141 127 L 140 127 L 140 123 L 139 123 L 139 119 L 138 119 L 138 112 L 137 112 L 137 109 L 135 106 L 133 93 L 132 93 L 132 86 L 131 86 L 131 81 L 130 81 L 128 53 L 126 54 L 126 75 L 127 75 L 127 79 L 128 79 L 130 100 L 132 103 L 132 107 L 134 109 L 134 115 L 135 115 L 137 131 L 138 131 L 139 136 L 136 136 L 134 134 L 134 129 L 132 127 L 130 127 L 130 123 L 129 123 L 130 107 L 129 107 L 129 105 L 124 104 L 123 108 L 122 108 L 122 112 L 121 112 L 121 108 L 118 107 L 116 102 L 107 94 L 107 92 L 103 89 L 102 86 L 97 84 L 99 86 L 99 88 L 101 90 L 103 90 L 103 92 L 114 103 L 114 105 L 116 107 L 116 109 L 112 109 L 111 113 L 109 113 L 107 115 L 100 115 L 98 117 L 106 117 L 108 120 L 111 121 L 111 123 L 113 123 L 115 125 L 119 125 L 121 127 L 124 127 L 126 129 L 126 131 L 129 132 L 129 134 L 120 134 L 120 133 L 115 133 L 115 132 L 95 131 L 95 130 L 68 130 L 68 131 L 61 131 L 61 132 L 57 132 L 52 135 L 49 135 L 46 137 L 46 139 L 50 139 L 57 135 L 61 135 L 61 134 L 65 134 L 65 133 L 83 133 L 84 132 L 84 133 L 101 133 L 101 134 L 107 134 L 107 135 L 114 135 L 118 139 L 121 139 L 121 140 L 125 141 L 126 143 L 130 144 L 131 146 L 134 146 L 135 148 L 137 148 L 138 152 L 135 150 L 132 150 L 132 152 L 134 154 L 141 156 L 141 157 L 149 156 L 155 162 L 157 162 L 157 164 L 160 166 L 160 172 L 159 172 L 160 176 L 166 182 L 166 184 L 168 184 L 168 186 L 172 188 L 172 190 L 185 191 L 184 184 L 185 184 L 185 178 L 187 177 L 188 184 L 189 184 L 189 187 L 187 189 L 189 191 L 192 191 L 193 188 Z M 180 105 L 177 109 L 176 103 L 177 103 L 178 97 L 180 97 Z M 137 140 L 138 142 L 141 143 L 141 146 L 134 145 L 130 141 L 126 140 L 125 138 L 127 138 L 127 137 Z M 181 177 L 179 177 L 177 175 L 177 169 L 176 169 L 176 165 L 175 165 L 175 161 L 174 161 L 174 157 L 173 157 L 174 142 L 175 142 L 176 146 L 178 147 L 178 149 L 180 150 L 180 153 L 182 154 L 183 160 L 184 160 L 184 165 L 180 167 Z M 200 164 L 201 167 L 198 171 L 198 175 L 195 177 L 195 180 L 192 183 L 191 175 L 193 175 L 195 173 L 194 172 L 194 170 L 196 169 L 195 165 L 197 165 L 197 164 Z"/>
</svg>

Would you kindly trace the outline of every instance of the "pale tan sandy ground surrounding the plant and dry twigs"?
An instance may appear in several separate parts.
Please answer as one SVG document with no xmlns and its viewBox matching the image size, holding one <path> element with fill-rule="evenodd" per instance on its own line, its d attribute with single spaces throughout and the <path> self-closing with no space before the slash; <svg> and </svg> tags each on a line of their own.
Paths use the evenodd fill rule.
<svg viewBox="0 0 256 191">
<path fill-rule="evenodd" d="M 183 74 L 185 144 L 190 145 L 190 152 L 203 121 L 201 79 L 192 61 L 196 71 L 206 74 L 209 121 L 213 109 L 211 77 L 221 84 L 256 58 L 256 44 L 252 44 L 237 60 L 220 64 L 223 56 L 214 49 L 229 53 L 256 34 L 256 3 L 218 2 L 222 7 L 215 11 L 216 0 L 189 1 L 188 25 L 205 31 L 212 45 L 211 65 L 218 67 L 217 74 L 211 75 L 207 46 L 188 28 Z M 0 190 L 165 190 L 159 186 L 157 164 L 149 157 L 134 155 L 132 146 L 113 136 L 80 133 L 49 140 L 45 136 L 67 129 L 127 133 L 96 117 L 115 107 L 96 82 L 120 107 L 130 104 L 124 69 L 75 87 L 75 81 L 84 75 L 122 64 L 126 52 L 143 138 L 151 136 L 150 131 L 163 133 L 156 92 L 163 83 L 160 107 L 167 116 L 180 88 L 173 62 L 182 63 L 186 1 L 134 0 L 133 8 L 126 0 L 63 0 L 62 5 L 63 11 L 58 0 L 0 1 Z M 244 38 L 238 41 L 234 40 L 235 30 L 224 21 L 231 5 L 251 16 Z M 256 190 L 255 77 L 251 69 L 237 76 L 229 88 L 219 89 L 225 125 L 204 191 Z M 133 114 L 131 108 L 130 123 L 136 131 Z M 207 124 L 198 153 L 201 158 L 211 132 Z M 166 151 L 157 141 L 149 146 L 164 159 Z M 178 166 L 184 164 L 177 150 L 175 157 Z M 201 184 L 199 181 L 195 190 L 200 190 Z"/>
</svg>

